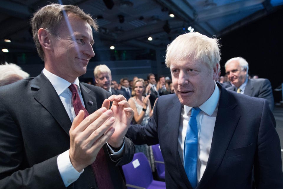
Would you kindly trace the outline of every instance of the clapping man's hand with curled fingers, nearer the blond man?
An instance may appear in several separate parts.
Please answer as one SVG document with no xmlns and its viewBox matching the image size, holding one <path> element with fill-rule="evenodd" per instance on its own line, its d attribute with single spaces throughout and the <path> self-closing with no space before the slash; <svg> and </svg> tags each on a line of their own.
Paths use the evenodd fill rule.
<svg viewBox="0 0 283 189">
<path fill-rule="evenodd" d="M 128 131 L 131 120 L 134 116 L 134 110 L 131 109 L 130 103 L 127 102 L 126 98 L 121 94 L 118 96 L 112 95 L 108 99 L 105 99 L 102 107 L 109 109 L 110 102 L 113 102 L 111 110 L 115 117 L 115 122 L 112 127 L 115 128 L 115 131 L 108 140 L 108 143 L 111 146 L 118 148 L 123 144 L 123 137 Z"/>
</svg>

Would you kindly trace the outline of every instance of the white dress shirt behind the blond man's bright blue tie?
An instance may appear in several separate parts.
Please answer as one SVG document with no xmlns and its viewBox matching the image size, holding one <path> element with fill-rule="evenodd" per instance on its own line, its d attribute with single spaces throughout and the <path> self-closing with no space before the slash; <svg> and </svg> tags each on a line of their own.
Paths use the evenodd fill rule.
<svg viewBox="0 0 283 189">
<path fill-rule="evenodd" d="M 220 97 L 220 89 L 218 89 L 216 82 L 212 95 L 199 108 L 202 110 L 197 115 L 198 124 L 198 162 L 197 162 L 197 177 L 198 182 L 205 171 L 208 156 L 210 152 L 213 130 L 218 111 L 218 102 Z M 190 120 L 192 107 L 184 105 L 182 107 L 180 117 L 180 127 L 178 136 L 178 151 L 182 164 L 184 165 L 184 143 L 187 131 L 187 125 Z"/>
</svg>

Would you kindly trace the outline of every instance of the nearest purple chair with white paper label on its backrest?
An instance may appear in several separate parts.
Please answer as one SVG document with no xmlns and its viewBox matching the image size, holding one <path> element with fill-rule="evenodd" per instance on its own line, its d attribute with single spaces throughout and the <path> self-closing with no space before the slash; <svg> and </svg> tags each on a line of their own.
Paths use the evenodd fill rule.
<svg viewBox="0 0 283 189">
<path fill-rule="evenodd" d="M 166 189 L 165 182 L 153 180 L 149 162 L 142 152 L 134 154 L 133 160 L 122 169 L 128 189 Z"/>
</svg>

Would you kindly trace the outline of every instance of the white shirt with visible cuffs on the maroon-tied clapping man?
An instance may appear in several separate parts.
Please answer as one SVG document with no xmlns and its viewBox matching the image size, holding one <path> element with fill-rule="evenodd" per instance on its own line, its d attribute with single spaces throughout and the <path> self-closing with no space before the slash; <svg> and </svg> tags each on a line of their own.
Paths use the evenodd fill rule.
<svg viewBox="0 0 283 189">
<path fill-rule="evenodd" d="M 62 101 L 65 107 L 66 112 L 68 113 L 68 116 L 71 122 L 73 123 L 73 120 L 76 117 L 76 114 L 75 114 L 75 110 L 74 110 L 73 103 L 72 103 L 72 92 L 68 88 L 71 85 L 71 83 L 66 81 L 65 79 L 62 79 L 59 76 L 56 76 L 55 74 L 52 74 L 51 72 L 47 71 L 45 68 L 43 69 L 43 74 L 47 77 L 47 79 L 53 85 L 55 91 L 57 92 L 60 100 Z M 81 94 L 81 90 L 80 90 L 80 83 L 79 83 L 78 77 L 73 84 L 77 85 L 78 94 L 80 96 L 80 101 L 82 102 L 83 107 L 85 107 L 83 97 Z M 112 154 L 119 155 L 121 154 L 124 148 L 124 143 L 123 143 L 122 148 L 118 152 L 115 152 L 115 153 L 108 144 L 107 146 L 109 147 Z M 71 183 L 75 182 L 80 177 L 80 174 L 83 172 L 83 170 L 81 172 L 78 172 L 73 167 L 72 163 L 70 162 L 69 150 L 63 152 L 57 157 L 57 166 L 58 166 L 58 170 L 60 172 L 60 175 L 66 187 L 68 187 Z"/>
</svg>

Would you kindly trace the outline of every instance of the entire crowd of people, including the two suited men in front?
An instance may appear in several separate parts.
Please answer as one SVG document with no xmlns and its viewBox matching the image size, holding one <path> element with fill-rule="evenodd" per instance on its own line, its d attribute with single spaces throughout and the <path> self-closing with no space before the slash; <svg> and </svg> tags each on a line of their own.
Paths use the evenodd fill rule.
<svg viewBox="0 0 283 189">
<path fill-rule="evenodd" d="M 168 189 L 283 188 L 270 82 L 249 79 L 241 57 L 225 64 L 230 86 L 215 82 L 216 38 L 175 38 L 165 58 L 172 80 L 148 74 L 118 84 L 99 65 L 94 86 L 79 81 L 95 55 L 91 15 L 49 4 L 31 25 L 45 65 L 0 87 L 0 189 L 125 189 L 121 166 L 137 145 L 150 159 L 154 144 Z"/>
</svg>

